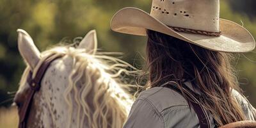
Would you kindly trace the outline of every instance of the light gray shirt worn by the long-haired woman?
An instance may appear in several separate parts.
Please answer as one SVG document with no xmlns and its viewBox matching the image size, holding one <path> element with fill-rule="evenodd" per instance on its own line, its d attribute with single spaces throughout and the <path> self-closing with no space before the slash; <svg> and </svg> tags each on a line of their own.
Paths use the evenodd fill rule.
<svg viewBox="0 0 256 128">
<path fill-rule="evenodd" d="M 191 83 L 187 86 L 194 92 L 198 89 L 192 88 Z M 240 93 L 232 90 L 232 95 L 236 97 L 237 102 L 246 115 L 247 120 L 255 120 L 253 111 L 255 109 L 250 105 Z M 216 127 L 210 113 L 209 120 L 211 127 Z M 193 109 L 189 108 L 188 102 L 182 95 L 164 87 L 155 87 L 140 93 L 140 96 L 132 105 L 131 111 L 124 128 L 170 128 L 170 127 L 188 127 L 197 128 L 199 121 Z"/>
</svg>

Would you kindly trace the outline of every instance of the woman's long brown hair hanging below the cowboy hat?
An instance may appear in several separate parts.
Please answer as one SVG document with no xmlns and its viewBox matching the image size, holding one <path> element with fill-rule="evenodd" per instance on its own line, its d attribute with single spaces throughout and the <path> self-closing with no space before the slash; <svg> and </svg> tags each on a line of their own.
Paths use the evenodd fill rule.
<svg viewBox="0 0 256 128">
<path fill-rule="evenodd" d="M 147 87 L 170 81 L 181 87 L 184 79 L 193 81 L 200 88 L 201 104 L 216 125 L 245 120 L 241 106 L 231 95 L 232 89 L 240 92 L 230 65 L 232 54 L 210 51 L 152 30 L 147 34 Z"/>
</svg>

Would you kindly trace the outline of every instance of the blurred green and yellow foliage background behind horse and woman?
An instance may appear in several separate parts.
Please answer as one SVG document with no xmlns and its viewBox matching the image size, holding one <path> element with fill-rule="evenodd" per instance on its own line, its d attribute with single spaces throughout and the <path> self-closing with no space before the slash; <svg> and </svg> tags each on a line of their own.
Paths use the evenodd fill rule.
<svg viewBox="0 0 256 128">
<path fill-rule="evenodd" d="M 0 0 L 0 107 L 12 104 L 25 68 L 17 49 L 16 29 L 28 31 L 41 51 L 96 29 L 99 49 L 124 52 L 122 59 L 141 68 L 145 37 L 115 33 L 113 14 L 134 6 L 149 12 L 149 0 Z M 242 24 L 256 38 L 255 0 L 221 0 L 221 18 Z M 236 54 L 234 66 L 244 94 L 256 106 L 256 54 Z M 1 120 L 1 119 L 0 119 Z"/>
</svg>

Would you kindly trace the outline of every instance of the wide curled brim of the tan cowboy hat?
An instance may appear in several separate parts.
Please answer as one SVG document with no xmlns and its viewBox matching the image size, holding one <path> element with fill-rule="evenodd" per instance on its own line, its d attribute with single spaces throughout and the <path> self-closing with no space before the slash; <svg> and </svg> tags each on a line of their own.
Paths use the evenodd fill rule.
<svg viewBox="0 0 256 128">
<path fill-rule="evenodd" d="M 250 32 L 243 26 L 225 19 L 220 19 L 221 36 L 205 36 L 174 31 L 147 12 L 128 7 L 113 16 L 111 29 L 140 36 L 146 36 L 147 29 L 151 29 L 212 51 L 248 52 L 255 49 L 255 40 Z"/>
</svg>

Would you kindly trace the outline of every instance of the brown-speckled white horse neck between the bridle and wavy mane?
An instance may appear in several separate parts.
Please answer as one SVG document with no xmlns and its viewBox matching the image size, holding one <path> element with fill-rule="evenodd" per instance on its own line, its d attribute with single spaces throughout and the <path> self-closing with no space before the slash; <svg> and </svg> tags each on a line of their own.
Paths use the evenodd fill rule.
<svg viewBox="0 0 256 128">
<path fill-rule="evenodd" d="M 66 56 L 53 61 L 42 79 L 40 92 L 37 93 L 38 97 L 36 95 L 34 97 L 35 100 L 40 99 L 38 104 L 44 111 L 40 113 L 40 119 L 42 122 L 50 122 L 50 126 L 67 127 L 70 105 L 66 103 L 63 94 L 68 88 L 70 72 L 72 72 L 72 58 Z"/>
</svg>

